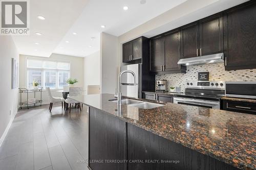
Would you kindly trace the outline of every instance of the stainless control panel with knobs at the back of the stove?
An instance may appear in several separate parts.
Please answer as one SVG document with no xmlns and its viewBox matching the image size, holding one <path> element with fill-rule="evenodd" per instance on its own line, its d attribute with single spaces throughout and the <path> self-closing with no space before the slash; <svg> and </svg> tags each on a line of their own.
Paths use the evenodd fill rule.
<svg viewBox="0 0 256 170">
<path fill-rule="evenodd" d="M 186 81 L 186 88 L 225 89 L 223 81 Z"/>
</svg>

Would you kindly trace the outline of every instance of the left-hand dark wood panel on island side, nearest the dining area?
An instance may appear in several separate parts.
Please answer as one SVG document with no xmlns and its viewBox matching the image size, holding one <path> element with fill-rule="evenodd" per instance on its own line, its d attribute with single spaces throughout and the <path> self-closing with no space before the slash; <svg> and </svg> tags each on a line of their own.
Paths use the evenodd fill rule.
<svg viewBox="0 0 256 170">
<path fill-rule="evenodd" d="M 106 160 L 126 159 L 126 123 L 122 120 L 90 108 L 89 115 L 89 163 L 93 170 L 125 169 L 126 163 L 107 163 Z"/>
</svg>

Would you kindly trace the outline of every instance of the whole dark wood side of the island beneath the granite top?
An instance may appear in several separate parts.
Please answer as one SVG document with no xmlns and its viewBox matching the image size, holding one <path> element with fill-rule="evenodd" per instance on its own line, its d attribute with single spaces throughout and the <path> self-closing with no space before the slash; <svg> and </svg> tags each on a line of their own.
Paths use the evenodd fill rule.
<svg viewBox="0 0 256 170">
<path fill-rule="evenodd" d="M 89 117 L 89 167 L 92 170 L 238 169 L 98 109 L 90 108 Z M 126 162 L 108 163 L 110 160 Z"/>
</svg>

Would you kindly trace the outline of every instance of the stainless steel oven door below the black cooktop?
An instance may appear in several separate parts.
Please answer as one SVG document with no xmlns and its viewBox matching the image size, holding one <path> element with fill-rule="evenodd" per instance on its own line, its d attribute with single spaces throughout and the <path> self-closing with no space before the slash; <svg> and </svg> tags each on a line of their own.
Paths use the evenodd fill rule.
<svg viewBox="0 0 256 170">
<path fill-rule="evenodd" d="M 190 106 L 205 107 L 211 109 L 220 109 L 220 102 L 206 101 L 199 99 L 188 99 L 188 98 L 174 98 L 174 103 Z"/>
</svg>

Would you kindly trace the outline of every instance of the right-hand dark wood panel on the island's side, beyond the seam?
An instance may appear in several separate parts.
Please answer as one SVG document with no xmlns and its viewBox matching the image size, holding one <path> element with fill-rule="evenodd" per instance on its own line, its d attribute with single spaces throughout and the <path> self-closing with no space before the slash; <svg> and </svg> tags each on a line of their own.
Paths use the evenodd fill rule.
<svg viewBox="0 0 256 170">
<path fill-rule="evenodd" d="M 238 169 L 131 124 L 127 124 L 127 149 L 129 160 L 173 161 L 173 163 L 145 163 L 145 161 L 130 163 L 129 170 Z"/>
</svg>

